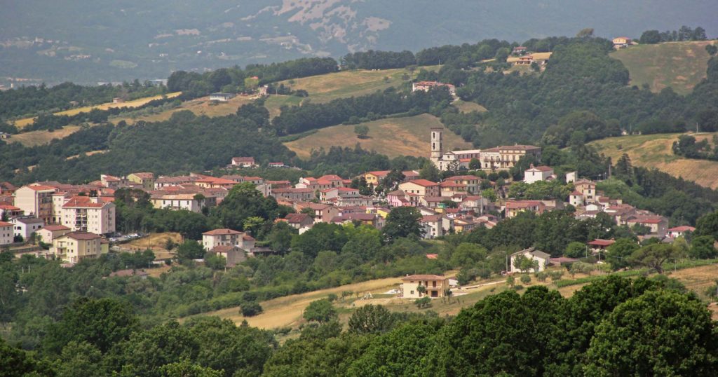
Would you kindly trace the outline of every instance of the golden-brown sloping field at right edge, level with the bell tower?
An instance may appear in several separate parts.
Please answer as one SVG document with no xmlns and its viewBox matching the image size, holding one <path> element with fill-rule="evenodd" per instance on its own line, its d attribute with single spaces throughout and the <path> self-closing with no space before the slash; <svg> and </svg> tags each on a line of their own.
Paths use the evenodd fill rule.
<svg viewBox="0 0 718 377">
<path fill-rule="evenodd" d="M 718 162 L 704 159 L 685 159 L 673 154 L 671 146 L 681 134 L 655 134 L 610 137 L 592 141 L 599 152 L 616 162 L 624 153 L 633 166 L 660 169 L 673 177 L 683 177 L 699 185 L 718 188 Z M 707 139 L 712 144 L 712 133 L 694 134 L 696 141 Z"/>
</svg>

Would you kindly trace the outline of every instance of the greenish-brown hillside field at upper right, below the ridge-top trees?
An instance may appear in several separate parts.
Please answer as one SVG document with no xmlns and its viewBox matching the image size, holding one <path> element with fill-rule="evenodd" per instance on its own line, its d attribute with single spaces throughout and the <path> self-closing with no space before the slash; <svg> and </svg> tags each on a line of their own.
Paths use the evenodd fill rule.
<svg viewBox="0 0 718 377">
<path fill-rule="evenodd" d="M 691 93 L 706 77 L 710 56 L 706 45 L 714 41 L 666 42 L 637 45 L 611 52 L 630 73 L 631 85 L 648 84 L 653 92 L 671 87 L 676 93 Z"/>
</svg>

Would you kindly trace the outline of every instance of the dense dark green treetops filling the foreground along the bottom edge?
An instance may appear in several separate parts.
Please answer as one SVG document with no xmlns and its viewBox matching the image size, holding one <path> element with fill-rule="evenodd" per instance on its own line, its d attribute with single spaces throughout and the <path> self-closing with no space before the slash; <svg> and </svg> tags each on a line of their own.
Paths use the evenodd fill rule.
<svg viewBox="0 0 718 377">
<path fill-rule="evenodd" d="M 37 352 L 1 341 L 9 376 L 712 376 L 715 322 L 680 283 L 611 276 L 564 298 L 500 292 L 453 318 L 353 309 L 342 330 L 322 299 L 298 338 L 217 317 L 144 325 L 126 302 L 75 299 Z M 98 315 L 102 313 L 102 315 Z M 645 336 L 650 333 L 651 336 Z"/>
</svg>

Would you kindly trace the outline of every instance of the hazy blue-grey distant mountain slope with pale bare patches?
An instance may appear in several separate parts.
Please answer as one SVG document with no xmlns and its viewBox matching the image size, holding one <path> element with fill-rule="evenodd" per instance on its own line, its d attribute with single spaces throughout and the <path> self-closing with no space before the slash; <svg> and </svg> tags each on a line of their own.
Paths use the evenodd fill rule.
<svg viewBox="0 0 718 377">
<path fill-rule="evenodd" d="M 718 2 L 686 0 L 9 0 L 0 77 L 55 83 L 166 77 L 306 55 L 419 50 L 498 38 L 716 32 Z"/>
</svg>

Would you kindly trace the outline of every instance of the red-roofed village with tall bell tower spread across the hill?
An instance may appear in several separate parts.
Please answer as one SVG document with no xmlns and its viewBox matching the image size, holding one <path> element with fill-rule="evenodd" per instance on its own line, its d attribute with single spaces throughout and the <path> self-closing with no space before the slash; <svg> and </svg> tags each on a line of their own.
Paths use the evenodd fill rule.
<svg viewBox="0 0 718 377">
<path fill-rule="evenodd" d="M 578 172 L 559 177 L 544 165 L 523 170 L 523 180 L 508 174 L 518 162 L 541 159 L 541 149 L 531 145 L 496 146 L 444 152 L 443 129 L 432 129 L 429 161 L 443 172 L 456 172 L 436 182 L 421 177 L 419 171 L 370 171 L 357 177 L 327 174 L 289 180 L 264 180 L 262 177 L 231 174 L 233 169 L 254 169 L 252 157 L 234 157 L 225 167 L 228 174 L 218 177 L 191 173 L 181 176 L 155 177 L 151 172 L 135 172 L 126 177 L 102 174 L 100 180 L 85 185 L 61 182 L 35 182 L 22 187 L 9 183 L 2 186 L 0 246 L 19 253 L 33 253 L 59 259 L 73 266 L 83 259 L 98 258 L 111 249 L 123 250 L 123 241 L 140 237 L 117 232 L 116 193 L 118 190 L 141 192 L 152 208 L 208 213 L 220 205 L 237 185 L 251 185 L 258 195 L 272 197 L 292 213 L 275 222 L 284 222 L 299 234 L 319 223 L 368 225 L 381 230 L 392 210 L 416 208 L 420 214 L 421 236 L 439 238 L 472 231 L 477 227 L 491 229 L 502 220 L 528 211 L 541 215 L 552 210 L 571 208 L 575 218 L 608 215 L 616 225 L 638 230 L 641 239 L 656 238 L 671 242 L 673 238 L 694 230 L 688 225 L 668 228 L 668 219 L 648 210 L 623 203 L 597 191 L 596 182 Z M 272 169 L 291 169 L 283 162 L 271 162 Z M 567 200 L 544 197 L 526 200 L 515 197 L 531 187 L 554 185 L 569 190 Z M 548 195 L 550 196 L 550 194 Z M 269 246 L 257 246 L 251 232 L 215 228 L 197 239 L 208 253 L 225 257 L 228 266 L 259 254 L 278 253 Z M 594 239 L 587 243 L 592 253 L 600 253 L 615 241 Z M 549 266 L 549 254 L 521 251 L 536 259 L 541 267 Z M 577 261 L 566 256 L 556 263 Z M 508 271 L 518 271 L 513 265 Z"/>
</svg>

